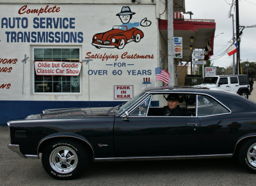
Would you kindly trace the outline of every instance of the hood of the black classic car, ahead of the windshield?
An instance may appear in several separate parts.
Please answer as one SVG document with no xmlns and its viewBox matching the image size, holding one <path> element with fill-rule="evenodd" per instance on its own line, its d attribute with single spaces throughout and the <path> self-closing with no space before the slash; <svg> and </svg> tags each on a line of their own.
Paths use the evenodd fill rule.
<svg viewBox="0 0 256 186">
<path fill-rule="evenodd" d="M 74 118 L 74 117 L 88 117 L 88 116 L 106 116 L 111 107 L 102 108 L 62 108 L 44 110 L 42 114 L 29 115 L 26 120 L 30 119 L 47 119 L 47 118 Z"/>
</svg>

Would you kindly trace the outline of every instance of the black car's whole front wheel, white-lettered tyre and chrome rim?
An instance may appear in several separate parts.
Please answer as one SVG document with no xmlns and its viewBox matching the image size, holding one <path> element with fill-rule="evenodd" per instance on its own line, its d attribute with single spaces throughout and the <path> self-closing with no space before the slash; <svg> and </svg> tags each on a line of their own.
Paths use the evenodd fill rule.
<svg viewBox="0 0 256 186">
<path fill-rule="evenodd" d="M 79 176 L 89 162 L 88 154 L 80 143 L 60 140 L 49 143 L 42 154 L 45 171 L 53 178 L 70 180 Z"/>
</svg>

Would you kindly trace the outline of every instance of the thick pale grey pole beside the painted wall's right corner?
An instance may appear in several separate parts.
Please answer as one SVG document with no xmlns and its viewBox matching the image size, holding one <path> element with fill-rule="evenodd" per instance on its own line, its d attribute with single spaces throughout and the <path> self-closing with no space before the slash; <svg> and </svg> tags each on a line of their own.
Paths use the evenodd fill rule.
<svg viewBox="0 0 256 186">
<path fill-rule="evenodd" d="M 169 86 L 174 87 L 174 42 L 173 42 L 173 0 L 168 0 L 168 72 L 170 74 Z"/>
</svg>

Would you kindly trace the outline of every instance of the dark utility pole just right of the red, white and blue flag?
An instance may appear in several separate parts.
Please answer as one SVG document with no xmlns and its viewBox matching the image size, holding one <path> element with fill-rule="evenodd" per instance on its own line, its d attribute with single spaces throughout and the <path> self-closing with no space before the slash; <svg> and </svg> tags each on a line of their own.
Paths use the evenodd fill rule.
<svg viewBox="0 0 256 186">
<path fill-rule="evenodd" d="M 236 63 L 237 63 L 237 75 L 240 73 L 240 26 L 239 26 L 239 0 L 236 0 L 236 41 L 237 41 L 237 54 L 236 54 Z"/>
</svg>

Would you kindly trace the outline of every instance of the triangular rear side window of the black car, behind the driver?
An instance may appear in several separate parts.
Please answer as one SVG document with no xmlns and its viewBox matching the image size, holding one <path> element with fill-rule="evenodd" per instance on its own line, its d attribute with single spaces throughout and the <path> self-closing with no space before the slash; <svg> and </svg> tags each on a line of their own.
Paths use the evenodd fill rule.
<svg viewBox="0 0 256 186">
<path fill-rule="evenodd" d="M 223 105 L 209 96 L 198 95 L 197 115 L 198 117 L 230 113 Z"/>
</svg>

